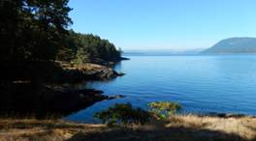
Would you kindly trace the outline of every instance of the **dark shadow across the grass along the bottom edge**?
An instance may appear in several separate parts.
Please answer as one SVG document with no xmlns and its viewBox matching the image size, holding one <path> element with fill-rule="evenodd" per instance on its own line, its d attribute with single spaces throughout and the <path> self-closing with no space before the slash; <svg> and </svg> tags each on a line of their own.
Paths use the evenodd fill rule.
<svg viewBox="0 0 256 141">
<path fill-rule="evenodd" d="M 68 141 L 249 141 L 237 134 L 191 127 L 111 128 L 99 132 L 77 133 Z M 253 139 L 254 140 L 254 139 Z"/>
</svg>

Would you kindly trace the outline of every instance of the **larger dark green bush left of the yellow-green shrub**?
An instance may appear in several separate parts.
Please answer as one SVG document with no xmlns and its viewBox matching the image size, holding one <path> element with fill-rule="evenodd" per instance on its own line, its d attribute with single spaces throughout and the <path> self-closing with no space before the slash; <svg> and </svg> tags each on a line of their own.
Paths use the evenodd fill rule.
<svg viewBox="0 0 256 141">
<path fill-rule="evenodd" d="M 107 110 L 95 113 L 94 117 L 113 126 L 116 124 L 145 124 L 149 122 L 151 114 L 142 108 L 133 107 L 131 103 L 116 103 Z"/>
</svg>

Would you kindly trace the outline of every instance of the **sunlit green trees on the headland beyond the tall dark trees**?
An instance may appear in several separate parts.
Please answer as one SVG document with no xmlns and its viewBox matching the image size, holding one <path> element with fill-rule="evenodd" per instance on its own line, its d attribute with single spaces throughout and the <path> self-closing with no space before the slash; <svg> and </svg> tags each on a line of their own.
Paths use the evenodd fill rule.
<svg viewBox="0 0 256 141">
<path fill-rule="evenodd" d="M 57 53 L 57 60 L 83 64 L 115 62 L 121 59 L 120 48 L 116 49 L 112 42 L 96 35 L 80 34 L 70 30 L 66 42 L 67 45 Z"/>
</svg>

